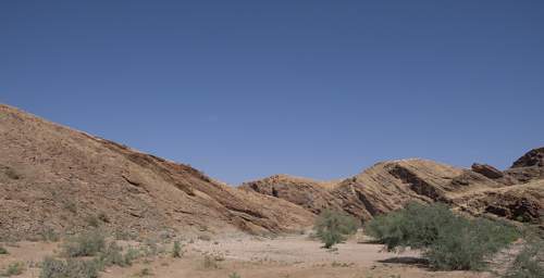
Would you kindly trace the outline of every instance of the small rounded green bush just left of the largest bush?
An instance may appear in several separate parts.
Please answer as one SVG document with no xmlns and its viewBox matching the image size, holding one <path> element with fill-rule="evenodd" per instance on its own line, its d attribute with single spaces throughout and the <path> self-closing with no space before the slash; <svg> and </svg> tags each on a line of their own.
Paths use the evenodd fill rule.
<svg viewBox="0 0 544 278">
<path fill-rule="evenodd" d="M 336 211 L 325 210 L 316 219 L 313 230 L 329 249 L 336 243 L 344 242 L 348 235 L 357 231 L 358 224 L 354 217 Z"/>
</svg>

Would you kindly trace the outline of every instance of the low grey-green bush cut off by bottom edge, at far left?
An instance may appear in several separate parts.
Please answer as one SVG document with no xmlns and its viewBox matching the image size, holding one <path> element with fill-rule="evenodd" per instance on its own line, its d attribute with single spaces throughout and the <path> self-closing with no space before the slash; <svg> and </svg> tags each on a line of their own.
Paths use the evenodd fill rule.
<svg viewBox="0 0 544 278">
<path fill-rule="evenodd" d="M 39 278 L 98 278 L 100 266 L 96 260 L 67 261 L 46 257 L 41 262 Z"/>
</svg>

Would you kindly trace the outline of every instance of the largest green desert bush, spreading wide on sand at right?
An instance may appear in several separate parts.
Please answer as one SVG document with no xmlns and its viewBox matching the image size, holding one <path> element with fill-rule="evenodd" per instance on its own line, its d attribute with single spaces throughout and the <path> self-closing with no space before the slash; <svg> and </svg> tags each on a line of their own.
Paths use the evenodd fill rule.
<svg viewBox="0 0 544 278">
<path fill-rule="evenodd" d="M 409 203 L 405 208 L 378 216 L 364 232 L 388 251 L 411 248 L 435 269 L 482 269 L 485 258 L 506 248 L 520 232 L 505 223 L 469 219 L 445 204 Z"/>
</svg>

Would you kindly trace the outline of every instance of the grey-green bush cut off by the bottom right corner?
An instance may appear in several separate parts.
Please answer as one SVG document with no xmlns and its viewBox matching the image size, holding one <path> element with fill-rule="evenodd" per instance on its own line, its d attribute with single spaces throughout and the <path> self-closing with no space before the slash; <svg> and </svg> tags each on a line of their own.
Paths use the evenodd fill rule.
<svg viewBox="0 0 544 278">
<path fill-rule="evenodd" d="M 527 239 L 523 249 L 516 256 L 505 278 L 539 278 L 544 274 L 544 240 L 539 237 Z"/>
</svg>

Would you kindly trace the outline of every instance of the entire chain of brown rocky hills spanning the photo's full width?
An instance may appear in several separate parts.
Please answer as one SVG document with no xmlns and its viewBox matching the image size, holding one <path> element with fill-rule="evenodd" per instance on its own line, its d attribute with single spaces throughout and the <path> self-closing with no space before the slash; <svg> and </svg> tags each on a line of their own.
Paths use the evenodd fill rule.
<svg viewBox="0 0 544 278">
<path fill-rule="evenodd" d="M 411 159 L 339 181 L 276 175 L 242 185 L 0 104 L 0 239 L 73 232 L 280 232 L 325 208 L 361 220 L 409 201 L 544 227 L 544 148 L 506 170 Z"/>
</svg>

